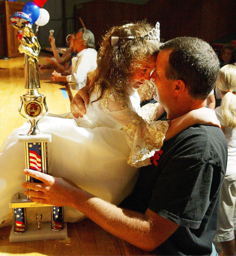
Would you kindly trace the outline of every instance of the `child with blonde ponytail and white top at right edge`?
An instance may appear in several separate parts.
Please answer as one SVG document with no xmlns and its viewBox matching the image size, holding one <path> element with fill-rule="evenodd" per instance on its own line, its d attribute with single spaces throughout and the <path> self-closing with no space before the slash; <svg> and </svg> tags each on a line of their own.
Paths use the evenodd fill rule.
<svg viewBox="0 0 236 256">
<path fill-rule="evenodd" d="M 219 255 L 235 255 L 236 230 L 236 66 L 220 69 L 216 87 L 221 93 L 221 106 L 215 109 L 228 144 L 228 161 L 221 188 L 219 217 L 215 241 L 220 242 Z"/>
</svg>

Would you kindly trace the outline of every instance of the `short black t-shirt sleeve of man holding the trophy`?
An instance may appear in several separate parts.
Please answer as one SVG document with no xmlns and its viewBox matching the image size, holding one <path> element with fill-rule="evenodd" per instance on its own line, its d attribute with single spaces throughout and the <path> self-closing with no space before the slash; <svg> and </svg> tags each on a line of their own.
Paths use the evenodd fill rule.
<svg viewBox="0 0 236 256">
<path fill-rule="evenodd" d="M 173 155 L 159 162 L 164 167 L 153 189 L 150 210 L 181 226 L 200 226 L 223 175 L 209 147 L 204 136 L 187 136 L 170 149 Z"/>
</svg>

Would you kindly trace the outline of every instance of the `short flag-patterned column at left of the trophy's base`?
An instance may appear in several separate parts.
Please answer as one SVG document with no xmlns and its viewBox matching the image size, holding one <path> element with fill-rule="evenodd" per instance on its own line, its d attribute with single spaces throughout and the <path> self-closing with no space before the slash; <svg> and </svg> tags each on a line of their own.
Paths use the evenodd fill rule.
<svg viewBox="0 0 236 256">
<path fill-rule="evenodd" d="M 13 216 L 15 233 L 22 233 L 27 230 L 25 208 L 13 208 Z"/>
</svg>

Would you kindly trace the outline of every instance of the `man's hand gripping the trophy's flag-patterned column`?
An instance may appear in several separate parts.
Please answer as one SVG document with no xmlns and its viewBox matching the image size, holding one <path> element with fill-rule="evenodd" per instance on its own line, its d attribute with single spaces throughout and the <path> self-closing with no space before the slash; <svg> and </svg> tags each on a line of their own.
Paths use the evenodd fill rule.
<svg viewBox="0 0 236 256">
<path fill-rule="evenodd" d="M 72 206 L 72 196 L 78 187 L 70 180 L 57 178 L 45 173 L 25 169 L 24 174 L 37 178 L 43 183 L 23 182 L 24 194 L 35 203 L 57 206 Z"/>
</svg>

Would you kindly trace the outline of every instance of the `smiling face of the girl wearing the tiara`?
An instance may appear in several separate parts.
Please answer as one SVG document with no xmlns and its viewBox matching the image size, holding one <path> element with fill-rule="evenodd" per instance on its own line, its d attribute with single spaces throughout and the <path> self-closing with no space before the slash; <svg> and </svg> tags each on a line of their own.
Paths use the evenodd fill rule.
<svg viewBox="0 0 236 256">
<path fill-rule="evenodd" d="M 143 59 L 141 67 L 137 68 L 129 79 L 129 86 L 133 89 L 139 89 L 146 80 L 150 80 L 151 72 L 155 68 L 156 54 Z"/>
</svg>

